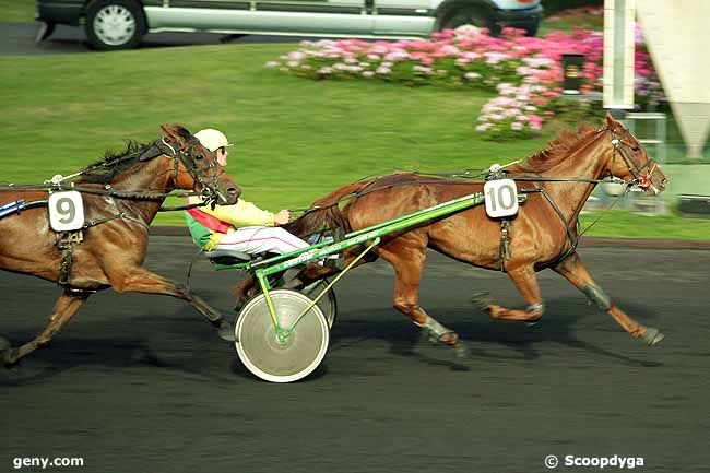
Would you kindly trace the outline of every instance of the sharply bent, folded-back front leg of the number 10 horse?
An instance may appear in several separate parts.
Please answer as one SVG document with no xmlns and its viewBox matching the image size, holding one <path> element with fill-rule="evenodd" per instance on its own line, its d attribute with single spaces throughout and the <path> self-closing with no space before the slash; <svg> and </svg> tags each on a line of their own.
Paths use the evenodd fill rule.
<svg viewBox="0 0 710 473">
<path fill-rule="evenodd" d="M 536 322 L 543 316 L 545 306 L 540 295 L 537 277 L 532 265 L 524 265 L 508 270 L 508 276 L 513 282 L 520 294 L 522 294 L 528 307 L 521 309 L 508 309 L 506 307 L 490 304 L 483 295 L 474 295 L 473 301 L 477 303 L 483 310 L 488 312 L 494 319 L 501 320 L 522 320 L 526 322 Z"/>
</svg>

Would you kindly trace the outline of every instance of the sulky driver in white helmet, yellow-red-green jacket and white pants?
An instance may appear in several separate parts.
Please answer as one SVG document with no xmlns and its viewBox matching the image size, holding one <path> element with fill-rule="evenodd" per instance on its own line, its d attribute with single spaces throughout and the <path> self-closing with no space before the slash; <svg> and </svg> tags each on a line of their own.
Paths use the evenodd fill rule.
<svg viewBox="0 0 710 473">
<path fill-rule="evenodd" d="M 216 154 L 222 167 L 227 165 L 227 149 L 233 146 L 218 130 L 208 128 L 194 133 L 200 143 Z M 200 196 L 188 198 L 188 204 L 202 203 Z M 291 212 L 271 213 L 239 199 L 232 205 L 204 205 L 186 211 L 186 220 L 194 243 L 204 251 L 283 255 L 308 244 L 279 225 L 291 221 Z M 235 255 L 238 256 L 238 255 Z"/>
</svg>

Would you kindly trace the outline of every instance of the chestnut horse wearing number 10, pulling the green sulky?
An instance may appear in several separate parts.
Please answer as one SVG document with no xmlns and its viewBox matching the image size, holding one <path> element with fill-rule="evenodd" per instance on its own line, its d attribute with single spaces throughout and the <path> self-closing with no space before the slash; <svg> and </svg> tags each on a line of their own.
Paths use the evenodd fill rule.
<svg viewBox="0 0 710 473">
<path fill-rule="evenodd" d="M 394 307 L 435 340 L 457 344 L 458 334 L 419 306 L 419 280 L 428 247 L 478 268 L 508 273 L 528 306 L 507 308 L 478 297 L 481 308 L 495 319 L 539 320 L 544 306 L 535 272 L 551 268 L 631 335 L 649 345 L 660 342 L 663 335 L 658 329 L 643 327 L 611 301 L 576 252 L 579 213 L 597 181 L 608 176 L 654 193 L 666 184 L 638 140 L 610 116 L 602 129 L 583 128 L 577 134 L 563 132 L 545 151 L 509 168 L 507 177 L 517 178 L 518 188 L 530 193 L 510 220 L 507 255 L 501 250 L 501 222 L 488 217 L 483 205 L 383 238 L 376 252 L 394 268 Z M 301 236 L 326 227 L 357 230 L 482 191 L 483 182 L 395 174 L 335 190 L 315 202 L 313 210 L 288 228 Z M 344 200 L 347 202 L 340 210 L 339 203 Z M 353 258 L 353 253 L 346 257 Z M 332 270 L 308 267 L 299 279 L 323 277 L 329 275 L 328 271 Z"/>
</svg>

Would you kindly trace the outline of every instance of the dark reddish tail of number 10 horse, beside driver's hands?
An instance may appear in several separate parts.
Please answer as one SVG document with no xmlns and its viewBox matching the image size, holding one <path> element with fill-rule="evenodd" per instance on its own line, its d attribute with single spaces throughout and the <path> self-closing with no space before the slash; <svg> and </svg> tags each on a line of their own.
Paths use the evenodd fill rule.
<svg viewBox="0 0 710 473">
<path fill-rule="evenodd" d="M 343 215 L 338 204 L 347 196 L 354 194 L 368 182 L 353 182 L 335 189 L 328 196 L 318 199 L 304 215 L 285 225 L 284 228 L 299 237 L 305 237 L 326 229 L 341 228 L 351 232 L 350 222 Z"/>
</svg>

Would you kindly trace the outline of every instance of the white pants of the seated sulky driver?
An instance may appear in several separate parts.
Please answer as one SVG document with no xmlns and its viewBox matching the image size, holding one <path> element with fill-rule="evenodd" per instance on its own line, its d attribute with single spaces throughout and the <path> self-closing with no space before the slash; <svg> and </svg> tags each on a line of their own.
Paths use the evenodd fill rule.
<svg viewBox="0 0 710 473">
<path fill-rule="evenodd" d="M 307 246 L 306 241 L 281 227 L 248 226 L 225 235 L 216 249 L 249 255 L 283 255 Z"/>
</svg>

